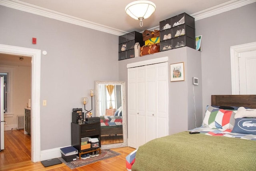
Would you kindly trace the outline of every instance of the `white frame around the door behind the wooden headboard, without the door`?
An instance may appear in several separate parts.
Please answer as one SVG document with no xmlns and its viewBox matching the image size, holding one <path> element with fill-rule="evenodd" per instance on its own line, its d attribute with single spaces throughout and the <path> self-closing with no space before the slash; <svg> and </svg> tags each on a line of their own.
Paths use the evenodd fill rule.
<svg viewBox="0 0 256 171">
<path fill-rule="evenodd" d="M 238 58 L 240 53 L 256 50 L 256 42 L 241 44 L 237 46 L 230 47 L 230 62 L 231 62 L 231 85 L 232 94 L 239 95 L 239 63 Z"/>
</svg>

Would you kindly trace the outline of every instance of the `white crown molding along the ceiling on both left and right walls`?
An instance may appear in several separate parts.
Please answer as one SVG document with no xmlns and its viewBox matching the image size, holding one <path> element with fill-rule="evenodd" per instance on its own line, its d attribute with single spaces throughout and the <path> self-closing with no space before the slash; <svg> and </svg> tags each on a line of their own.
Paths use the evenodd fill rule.
<svg viewBox="0 0 256 171">
<path fill-rule="evenodd" d="M 202 10 L 199 12 L 196 12 L 194 14 L 190 14 L 192 17 L 195 18 L 195 21 L 197 20 L 202 20 L 204 18 L 210 17 L 210 16 L 214 16 L 217 14 L 220 14 L 222 12 L 226 12 L 229 10 L 233 10 L 251 3 L 256 2 L 256 0 L 231 0 L 228 2 L 225 2 L 223 4 L 208 8 L 206 10 Z M 44 16 L 44 17 L 48 17 L 48 18 L 52 18 L 55 20 L 60 20 L 63 22 L 68 22 L 70 24 L 75 24 L 78 26 L 82 26 L 82 27 L 86 27 L 86 28 L 91 28 L 94 30 L 98 30 L 101 32 L 106 32 L 109 34 L 114 34 L 117 36 L 122 36 L 124 34 L 127 34 L 128 32 L 123 31 L 123 30 L 118 30 L 116 28 L 112 28 L 109 26 L 105 26 L 102 24 L 98 24 L 95 22 L 90 22 L 88 20 L 83 20 L 81 18 L 76 18 L 74 16 L 70 16 L 67 14 L 63 14 L 60 12 L 56 12 L 53 10 L 49 10 L 46 8 L 42 8 L 39 6 L 35 6 L 32 4 L 28 4 L 26 2 L 21 2 L 19 0 L 1 0 L 0 1 L 0 5 L 2 6 L 6 6 L 9 8 L 14 8 L 16 10 L 21 10 L 24 12 L 29 12 L 32 14 L 36 14 L 36 15 L 40 15 L 40 16 Z M 155 26 L 153 28 L 147 29 L 147 30 L 159 30 L 159 26 Z"/>
</svg>

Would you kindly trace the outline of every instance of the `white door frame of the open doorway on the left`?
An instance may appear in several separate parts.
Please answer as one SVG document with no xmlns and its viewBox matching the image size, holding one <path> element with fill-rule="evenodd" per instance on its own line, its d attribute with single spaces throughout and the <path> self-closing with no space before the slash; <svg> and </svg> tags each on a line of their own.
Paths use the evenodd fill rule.
<svg viewBox="0 0 256 171">
<path fill-rule="evenodd" d="M 31 160 L 40 160 L 40 68 L 41 50 L 0 44 L 0 53 L 32 58 Z"/>
</svg>

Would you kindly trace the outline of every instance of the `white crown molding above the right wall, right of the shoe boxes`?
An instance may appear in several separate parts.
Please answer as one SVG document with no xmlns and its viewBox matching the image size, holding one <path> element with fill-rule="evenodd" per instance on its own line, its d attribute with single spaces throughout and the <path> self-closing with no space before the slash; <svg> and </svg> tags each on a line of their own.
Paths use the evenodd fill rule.
<svg viewBox="0 0 256 171">
<path fill-rule="evenodd" d="M 234 10 L 236 8 L 240 8 L 242 6 L 245 6 L 254 2 L 256 2 L 256 0 L 231 0 L 225 3 L 213 6 L 211 8 L 208 8 L 206 10 L 196 12 L 194 14 L 191 14 L 191 16 L 195 18 L 195 21 L 197 21 L 210 16 L 220 14 L 222 12 Z"/>
</svg>

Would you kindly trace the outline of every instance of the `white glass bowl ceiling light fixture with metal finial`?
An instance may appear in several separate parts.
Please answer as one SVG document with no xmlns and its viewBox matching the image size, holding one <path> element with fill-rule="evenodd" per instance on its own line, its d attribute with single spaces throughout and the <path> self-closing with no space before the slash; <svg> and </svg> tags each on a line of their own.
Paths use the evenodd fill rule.
<svg viewBox="0 0 256 171">
<path fill-rule="evenodd" d="M 140 27 L 143 26 L 143 19 L 149 18 L 156 10 L 156 5 L 148 0 L 137 0 L 125 7 L 125 12 L 135 20 L 140 20 Z"/>
</svg>

